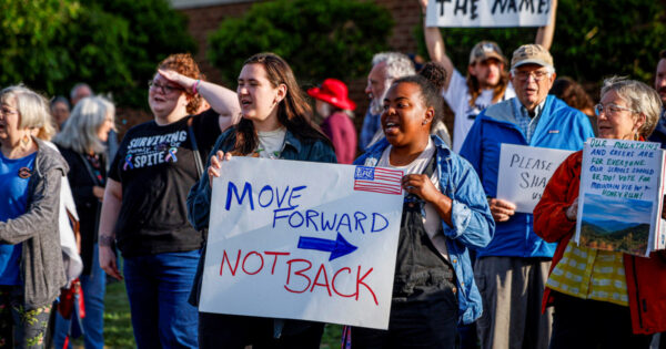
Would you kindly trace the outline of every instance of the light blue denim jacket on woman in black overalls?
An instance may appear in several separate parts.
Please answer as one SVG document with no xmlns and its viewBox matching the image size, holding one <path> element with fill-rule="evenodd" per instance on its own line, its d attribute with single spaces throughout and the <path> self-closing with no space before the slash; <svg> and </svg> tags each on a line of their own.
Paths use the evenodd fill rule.
<svg viewBox="0 0 666 349">
<path fill-rule="evenodd" d="M 442 220 L 448 260 L 453 265 L 457 283 L 458 321 L 472 324 L 482 314 L 478 288 L 467 248 L 484 248 L 492 239 L 495 222 L 485 192 L 474 168 L 467 161 L 453 153 L 437 136 L 431 136 L 436 147 L 440 191 L 452 199 L 453 227 Z M 383 138 L 372 145 L 354 164 L 376 166 L 389 146 Z"/>
</svg>

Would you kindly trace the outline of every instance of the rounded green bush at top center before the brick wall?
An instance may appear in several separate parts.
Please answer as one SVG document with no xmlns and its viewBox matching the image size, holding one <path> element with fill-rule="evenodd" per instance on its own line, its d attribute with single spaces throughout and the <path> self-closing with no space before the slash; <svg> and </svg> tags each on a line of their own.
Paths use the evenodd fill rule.
<svg viewBox="0 0 666 349">
<path fill-rule="evenodd" d="M 209 59 L 228 82 L 244 60 L 271 51 L 284 58 L 302 83 L 367 73 L 372 55 L 386 50 L 389 11 L 356 0 L 276 0 L 224 20 L 209 38 Z"/>
</svg>

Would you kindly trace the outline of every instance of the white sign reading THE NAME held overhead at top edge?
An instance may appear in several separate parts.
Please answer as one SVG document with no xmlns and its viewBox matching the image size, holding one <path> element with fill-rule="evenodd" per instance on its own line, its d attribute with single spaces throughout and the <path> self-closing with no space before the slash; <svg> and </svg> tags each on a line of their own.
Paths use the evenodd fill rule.
<svg viewBox="0 0 666 349">
<path fill-rule="evenodd" d="M 544 27 L 551 0 L 430 0 L 427 27 Z"/>
</svg>

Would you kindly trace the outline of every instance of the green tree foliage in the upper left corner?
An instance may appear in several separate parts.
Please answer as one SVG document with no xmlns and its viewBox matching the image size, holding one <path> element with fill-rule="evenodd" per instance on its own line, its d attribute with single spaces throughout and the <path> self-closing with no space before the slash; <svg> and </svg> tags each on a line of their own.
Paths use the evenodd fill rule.
<svg viewBox="0 0 666 349">
<path fill-rule="evenodd" d="M 0 85 L 68 95 L 77 82 L 145 106 L 145 82 L 170 53 L 195 49 L 167 0 L 0 0 Z"/>
</svg>

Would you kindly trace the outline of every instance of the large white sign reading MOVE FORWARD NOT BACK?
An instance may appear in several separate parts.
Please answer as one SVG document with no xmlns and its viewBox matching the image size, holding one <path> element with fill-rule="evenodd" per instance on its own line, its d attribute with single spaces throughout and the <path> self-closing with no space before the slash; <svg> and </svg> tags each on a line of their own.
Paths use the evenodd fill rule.
<svg viewBox="0 0 666 349">
<path fill-rule="evenodd" d="M 200 311 L 389 327 L 401 171 L 233 157 L 221 173 Z"/>
</svg>

